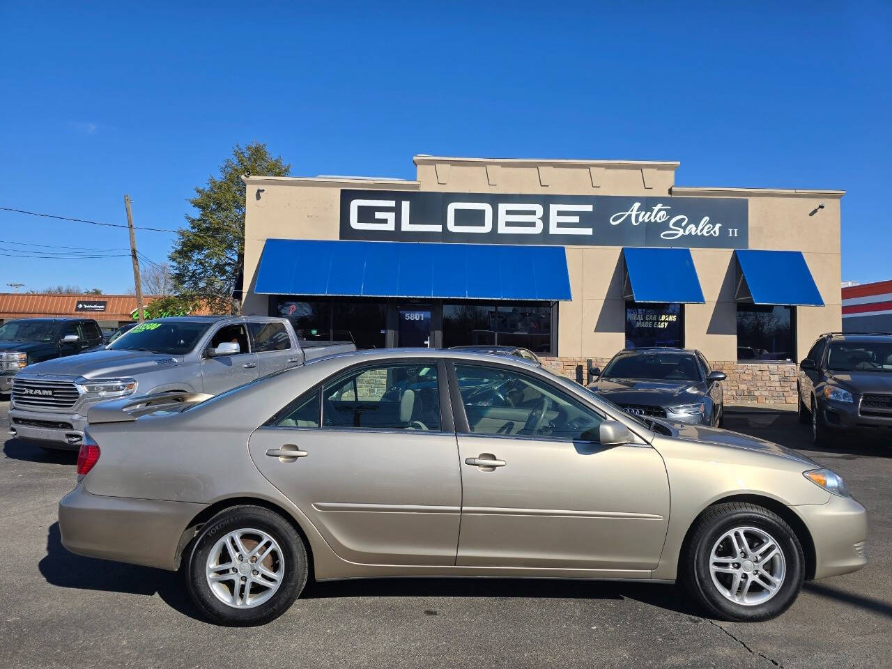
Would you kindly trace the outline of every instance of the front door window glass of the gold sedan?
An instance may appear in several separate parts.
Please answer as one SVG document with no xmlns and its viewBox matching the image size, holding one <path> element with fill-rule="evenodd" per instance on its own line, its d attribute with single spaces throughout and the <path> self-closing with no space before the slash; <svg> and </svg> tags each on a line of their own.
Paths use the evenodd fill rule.
<svg viewBox="0 0 892 669">
<path fill-rule="evenodd" d="M 534 376 L 474 365 L 456 365 L 455 371 L 474 434 L 598 441 L 604 417 Z"/>
</svg>

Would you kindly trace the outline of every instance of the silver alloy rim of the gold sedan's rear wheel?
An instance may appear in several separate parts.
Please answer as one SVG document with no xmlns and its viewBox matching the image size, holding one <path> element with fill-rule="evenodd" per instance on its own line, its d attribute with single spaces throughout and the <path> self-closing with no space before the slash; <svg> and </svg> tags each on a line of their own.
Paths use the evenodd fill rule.
<svg viewBox="0 0 892 669">
<path fill-rule="evenodd" d="M 211 548 L 205 576 L 214 597 L 228 607 L 259 607 L 282 584 L 285 559 L 268 533 L 251 528 L 235 530 Z"/>
</svg>

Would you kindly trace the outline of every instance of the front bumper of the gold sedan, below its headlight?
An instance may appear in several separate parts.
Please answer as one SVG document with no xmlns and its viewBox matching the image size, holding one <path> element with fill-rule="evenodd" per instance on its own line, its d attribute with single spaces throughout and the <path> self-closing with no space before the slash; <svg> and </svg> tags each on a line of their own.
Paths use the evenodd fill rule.
<svg viewBox="0 0 892 669">
<path fill-rule="evenodd" d="M 814 541 L 815 578 L 856 572 L 867 564 L 867 510 L 851 498 L 795 507 Z"/>
</svg>

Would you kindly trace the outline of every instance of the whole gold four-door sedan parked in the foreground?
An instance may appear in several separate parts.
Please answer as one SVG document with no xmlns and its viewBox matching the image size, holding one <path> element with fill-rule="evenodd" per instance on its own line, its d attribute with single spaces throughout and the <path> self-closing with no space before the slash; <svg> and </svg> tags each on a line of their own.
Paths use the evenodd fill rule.
<svg viewBox="0 0 892 669">
<path fill-rule="evenodd" d="M 795 451 L 429 349 L 97 405 L 59 524 L 80 555 L 182 567 L 223 624 L 281 615 L 310 573 L 680 581 L 708 615 L 764 620 L 863 567 L 867 538 Z"/>
</svg>

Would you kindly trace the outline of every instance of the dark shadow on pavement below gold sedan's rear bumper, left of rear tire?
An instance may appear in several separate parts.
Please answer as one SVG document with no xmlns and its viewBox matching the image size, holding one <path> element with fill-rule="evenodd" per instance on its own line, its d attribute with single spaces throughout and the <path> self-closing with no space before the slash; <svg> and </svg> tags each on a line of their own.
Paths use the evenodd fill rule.
<svg viewBox="0 0 892 669">
<path fill-rule="evenodd" d="M 189 599 L 182 574 L 75 555 L 62 546 L 58 523 L 49 527 L 46 555 L 37 563 L 37 568 L 46 582 L 60 588 L 148 596 L 157 592 L 169 607 L 196 620 L 202 619 Z"/>
</svg>

